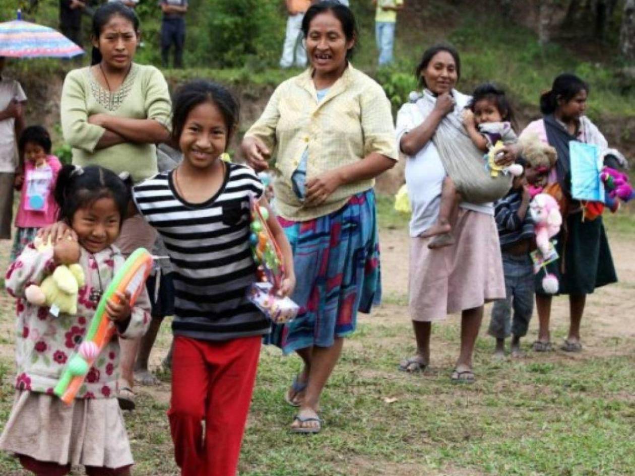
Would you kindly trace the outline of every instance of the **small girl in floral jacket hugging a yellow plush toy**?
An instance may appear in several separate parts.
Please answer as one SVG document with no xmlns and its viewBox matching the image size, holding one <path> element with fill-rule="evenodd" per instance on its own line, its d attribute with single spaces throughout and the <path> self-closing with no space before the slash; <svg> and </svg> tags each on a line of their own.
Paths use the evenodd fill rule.
<svg viewBox="0 0 635 476">
<path fill-rule="evenodd" d="M 0 437 L 0 449 L 15 453 L 36 475 L 65 475 L 71 465 L 90 476 L 124 476 L 133 463 L 117 404 L 119 339 L 142 336 L 150 321 L 145 292 L 130 306 L 118 293 L 107 313 L 117 335 L 100 352 L 70 406 L 53 395 L 67 360 L 86 333 L 97 303 L 117 270 L 121 251 L 113 246 L 130 200 L 130 190 L 114 173 L 96 166 L 65 166 L 55 188 L 60 219 L 70 230 L 52 248 L 33 244 L 11 264 L 7 291 L 17 298 L 17 378 L 15 402 Z M 77 314 L 55 316 L 27 302 L 25 288 L 40 284 L 60 264 L 77 263 L 85 284 Z"/>
</svg>

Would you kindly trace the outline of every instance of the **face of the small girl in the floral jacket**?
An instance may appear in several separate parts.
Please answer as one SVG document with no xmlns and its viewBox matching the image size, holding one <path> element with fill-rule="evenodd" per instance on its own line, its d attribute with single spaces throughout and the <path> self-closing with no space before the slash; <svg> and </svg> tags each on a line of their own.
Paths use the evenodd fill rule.
<svg viewBox="0 0 635 476">
<path fill-rule="evenodd" d="M 90 253 L 98 253 L 119 236 L 121 215 L 116 202 L 111 197 L 103 197 L 77 209 L 70 227 L 77 233 L 81 246 Z"/>
</svg>

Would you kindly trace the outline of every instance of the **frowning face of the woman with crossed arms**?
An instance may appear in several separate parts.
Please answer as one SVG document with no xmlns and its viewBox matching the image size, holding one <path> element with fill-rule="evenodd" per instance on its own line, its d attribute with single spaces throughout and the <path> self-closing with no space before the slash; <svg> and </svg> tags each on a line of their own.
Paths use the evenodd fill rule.
<svg viewBox="0 0 635 476">
<path fill-rule="evenodd" d="M 135 57 L 139 41 L 138 32 L 128 18 L 112 15 L 93 46 L 102 53 L 102 61 L 112 69 L 128 69 Z"/>
</svg>

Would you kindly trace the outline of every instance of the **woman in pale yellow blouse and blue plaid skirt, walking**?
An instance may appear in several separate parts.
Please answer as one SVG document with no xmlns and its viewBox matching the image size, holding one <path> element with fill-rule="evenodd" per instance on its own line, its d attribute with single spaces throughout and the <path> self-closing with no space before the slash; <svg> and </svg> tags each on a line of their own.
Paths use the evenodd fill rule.
<svg viewBox="0 0 635 476">
<path fill-rule="evenodd" d="M 374 178 L 398 157 L 383 89 L 349 63 L 351 10 L 323 1 L 302 22 L 311 67 L 277 87 L 243 140 L 255 169 L 274 165 L 279 221 L 291 242 L 298 318 L 274 326 L 270 343 L 304 368 L 286 400 L 300 407 L 291 429 L 317 433 L 321 392 L 356 327 L 380 300 Z"/>
</svg>

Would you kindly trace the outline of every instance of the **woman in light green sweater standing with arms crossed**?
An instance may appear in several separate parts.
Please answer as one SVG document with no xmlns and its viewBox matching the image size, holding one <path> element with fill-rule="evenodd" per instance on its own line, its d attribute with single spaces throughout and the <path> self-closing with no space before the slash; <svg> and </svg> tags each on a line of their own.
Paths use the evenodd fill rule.
<svg viewBox="0 0 635 476">
<path fill-rule="evenodd" d="M 93 17 L 91 66 L 72 70 L 62 89 L 62 131 L 73 164 L 99 165 L 133 182 L 157 173 L 156 143 L 170 138 L 170 93 L 155 67 L 133 63 L 139 20 L 121 3 L 107 3 Z M 116 245 L 124 254 L 152 249 L 154 230 L 135 216 L 124 221 Z M 133 365 L 138 341 L 122 343 L 119 402 L 134 407 Z"/>
</svg>

